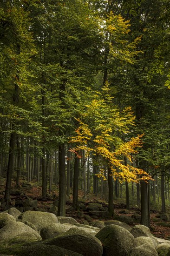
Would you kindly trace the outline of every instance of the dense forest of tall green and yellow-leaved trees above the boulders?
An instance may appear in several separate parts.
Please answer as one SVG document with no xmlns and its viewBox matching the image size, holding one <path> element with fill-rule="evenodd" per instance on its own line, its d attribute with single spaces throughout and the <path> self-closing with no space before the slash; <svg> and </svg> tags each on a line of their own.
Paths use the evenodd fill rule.
<svg viewBox="0 0 170 256">
<path fill-rule="evenodd" d="M 0 177 L 79 209 L 170 207 L 170 1 L 0 0 Z"/>
</svg>

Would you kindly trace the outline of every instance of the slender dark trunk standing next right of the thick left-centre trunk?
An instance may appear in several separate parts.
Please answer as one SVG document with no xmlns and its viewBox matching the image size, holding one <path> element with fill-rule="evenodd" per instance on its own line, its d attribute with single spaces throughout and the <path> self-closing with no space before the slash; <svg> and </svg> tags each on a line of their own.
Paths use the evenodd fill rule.
<svg viewBox="0 0 170 256">
<path fill-rule="evenodd" d="M 74 158 L 74 179 L 73 179 L 73 198 L 72 206 L 75 210 L 79 209 L 78 204 L 78 177 L 79 177 L 79 158 L 75 155 Z"/>
</svg>

